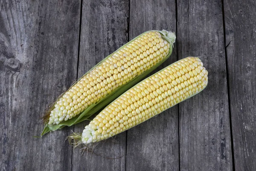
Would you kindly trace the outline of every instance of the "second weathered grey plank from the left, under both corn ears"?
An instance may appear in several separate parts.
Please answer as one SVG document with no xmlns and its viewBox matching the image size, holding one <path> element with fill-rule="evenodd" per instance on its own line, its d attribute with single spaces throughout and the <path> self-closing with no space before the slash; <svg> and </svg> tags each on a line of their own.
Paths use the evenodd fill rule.
<svg viewBox="0 0 256 171">
<path fill-rule="evenodd" d="M 83 1 L 81 41 L 79 52 L 79 77 L 127 42 L 129 1 Z M 75 125 L 82 132 L 89 122 Z M 73 151 L 73 170 L 123 171 L 125 170 L 126 134 L 117 135 L 99 143 L 91 152 L 81 156 Z"/>
</svg>

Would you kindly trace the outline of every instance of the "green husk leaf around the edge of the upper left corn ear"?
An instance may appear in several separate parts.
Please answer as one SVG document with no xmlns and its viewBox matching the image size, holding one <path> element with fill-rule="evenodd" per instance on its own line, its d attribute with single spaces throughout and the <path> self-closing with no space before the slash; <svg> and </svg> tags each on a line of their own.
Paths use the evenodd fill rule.
<svg viewBox="0 0 256 171">
<path fill-rule="evenodd" d="M 154 31 L 154 30 L 153 30 Z M 137 39 L 140 36 L 143 36 L 144 34 L 151 32 L 151 31 L 146 31 L 143 34 L 140 34 L 139 36 L 135 37 L 134 39 Z M 61 122 L 58 125 L 48 125 L 47 123 L 45 124 L 44 130 L 41 133 L 41 136 L 48 133 L 48 132 L 52 132 L 52 131 L 56 131 L 57 129 L 61 129 L 64 126 L 72 126 L 76 123 L 80 123 L 82 121 L 87 120 L 88 118 L 90 118 L 90 116 L 92 116 L 93 114 L 95 114 L 96 112 L 98 112 L 100 109 L 102 109 L 103 107 L 105 107 L 106 105 L 108 105 L 109 103 L 111 103 L 114 99 L 116 99 L 117 97 L 119 97 L 120 95 L 122 95 L 123 93 L 125 93 L 126 90 L 130 89 L 131 87 L 133 87 L 135 84 L 137 84 L 138 82 L 140 82 L 145 76 L 147 76 L 149 73 L 151 73 L 153 70 L 155 70 L 157 67 L 160 66 L 160 64 L 162 64 L 163 62 L 166 61 L 166 59 L 169 58 L 169 56 L 172 54 L 172 47 L 173 47 L 173 43 L 175 42 L 175 34 L 173 34 L 172 39 L 169 39 L 167 36 L 167 34 L 169 33 L 168 31 L 158 31 L 160 32 L 160 34 L 162 34 L 162 38 L 165 39 L 167 42 L 169 42 L 170 45 L 170 49 L 169 49 L 169 53 L 167 54 L 166 58 L 163 59 L 162 61 L 160 61 L 158 64 L 156 64 L 154 67 L 150 68 L 149 70 L 143 72 L 142 74 L 140 74 L 139 76 L 135 77 L 134 79 L 132 79 L 131 81 L 129 81 L 128 83 L 116 88 L 113 92 L 111 92 L 109 95 L 107 95 L 105 98 L 102 98 L 100 101 L 98 101 L 96 104 L 91 104 L 89 107 L 87 107 L 87 109 L 85 109 L 83 112 L 81 112 L 81 114 L 77 115 L 74 118 L 71 118 L 67 121 Z M 134 41 L 134 39 L 132 39 L 130 42 Z M 120 47 L 119 49 L 117 49 L 116 51 L 114 51 L 113 53 L 116 53 L 118 50 L 122 49 L 124 46 L 128 45 L 130 42 L 126 43 L 125 45 L 123 45 L 122 47 Z M 102 64 L 106 59 L 108 59 L 110 56 L 113 55 L 113 53 L 111 53 L 109 56 L 107 56 L 105 59 L 103 59 L 101 62 L 99 62 L 98 64 L 96 64 L 93 68 L 91 68 L 87 73 L 84 74 L 84 76 L 88 73 L 90 73 L 91 70 L 93 70 L 95 67 L 97 67 L 98 65 Z M 83 76 L 82 76 L 83 77 Z M 82 78 L 81 77 L 81 78 Z M 79 80 L 81 79 L 79 78 Z M 78 80 L 78 81 L 79 81 Z M 76 83 L 74 83 L 76 84 Z M 71 86 L 72 87 L 72 86 Z M 60 97 L 59 97 L 60 98 Z"/>
</svg>

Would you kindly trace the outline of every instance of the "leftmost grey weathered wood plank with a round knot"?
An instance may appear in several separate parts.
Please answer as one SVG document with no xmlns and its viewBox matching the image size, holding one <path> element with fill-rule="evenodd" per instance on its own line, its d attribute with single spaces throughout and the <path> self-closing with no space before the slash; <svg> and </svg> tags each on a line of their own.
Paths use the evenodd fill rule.
<svg viewBox="0 0 256 171">
<path fill-rule="evenodd" d="M 0 168 L 71 169 L 66 129 L 34 138 L 42 112 L 76 80 L 80 1 L 0 1 Z"/>
</svg>

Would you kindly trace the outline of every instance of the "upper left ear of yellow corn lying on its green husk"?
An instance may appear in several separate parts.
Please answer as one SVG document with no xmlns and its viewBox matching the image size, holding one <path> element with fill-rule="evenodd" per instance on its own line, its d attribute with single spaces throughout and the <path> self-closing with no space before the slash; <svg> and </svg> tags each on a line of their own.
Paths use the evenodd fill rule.
<svg viewBox="0 0 256 171">
<path fill-rule="evenodd" d="M 58 98 L 44 117 L 42 135 L 86 120 L 137 84 L 171 55 L 175 38 L 147 31 L 103 59 Z"/>
</svg>

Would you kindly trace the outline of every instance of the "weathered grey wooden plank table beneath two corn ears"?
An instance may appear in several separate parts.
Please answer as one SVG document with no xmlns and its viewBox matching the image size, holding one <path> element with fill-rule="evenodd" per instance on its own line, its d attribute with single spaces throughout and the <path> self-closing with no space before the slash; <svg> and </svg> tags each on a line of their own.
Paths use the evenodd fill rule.
<svg viewBox="0 0 256 171">
<path fill-rule="evenodd" d="M 255 0 L 1 0 L 0 170 L 255 171 L 255 16 Z M 33 137 L 59 94 L 153 29 L 177 34 L 160 68 L 202 57 L 202 93 L 82 156 L 64 140 L 87 122 Z"/>
</svg>

